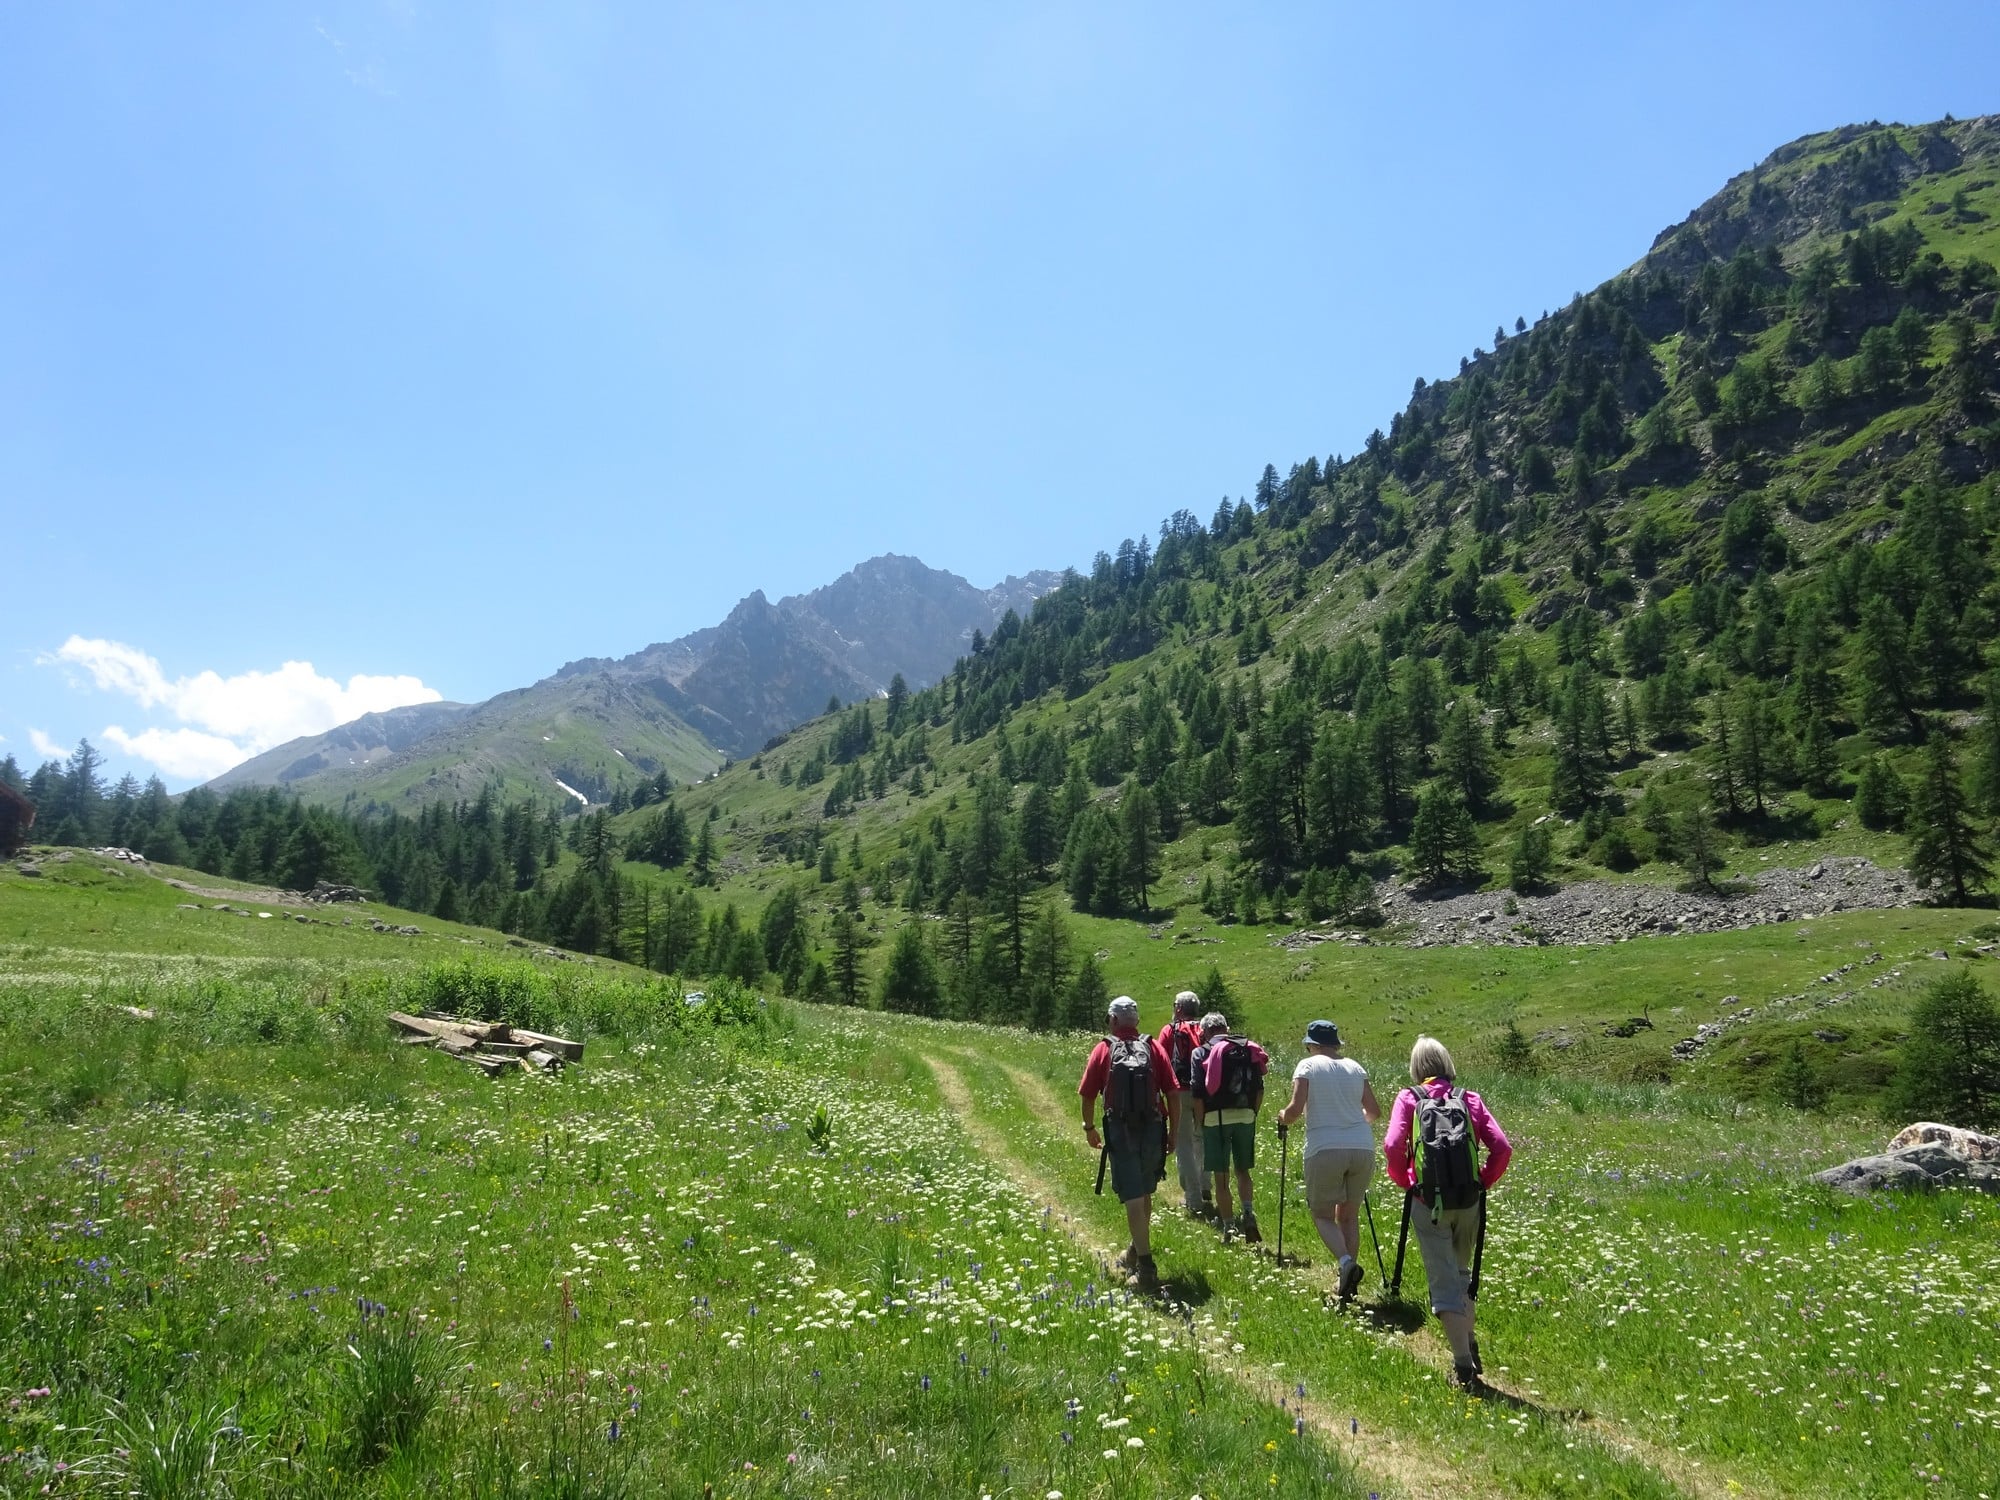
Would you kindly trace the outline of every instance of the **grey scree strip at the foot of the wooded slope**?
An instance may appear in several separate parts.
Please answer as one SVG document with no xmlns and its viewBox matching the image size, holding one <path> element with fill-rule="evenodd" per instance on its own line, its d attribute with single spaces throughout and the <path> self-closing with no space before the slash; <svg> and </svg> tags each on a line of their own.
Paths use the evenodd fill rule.
<svg viewBox="0 0 2000 1500">
<path fill-rule="evenodd" d="M 1376 904 L 1406 928 L 1408 946 L 1546 942 L 1624 942 L 1666 932 L 1728 932 L 1766 922 L 1796 922 L 1832 912 L 1914 906 L 1910 876 L 1872 860 L 1820 860 L 1790 870 L 1762 870 L 1740 892 L 1696 894 L 1668 886 L 1586 880 L 1542 896 L 1504 890 L 1440 892 L 1384 882 Z"/>
</svg>

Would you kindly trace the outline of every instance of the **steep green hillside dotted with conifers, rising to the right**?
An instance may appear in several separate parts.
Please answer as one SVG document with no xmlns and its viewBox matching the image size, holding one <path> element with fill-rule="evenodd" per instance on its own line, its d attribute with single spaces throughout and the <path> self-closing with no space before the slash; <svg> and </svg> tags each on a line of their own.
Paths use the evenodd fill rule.
<svg viewBox="0 0 2000 1500">
<path fill-rule="evenodd" d="M 1550 890 L 1748 892 L 1836 854 L 1978 902 L 2000 812 L 1996 226 L 1996 118 L 1812 136 L 1418 380 L 1360 454 L 1174 510 L 932 688 L 566 824 L 456 780 L 412 818 L 188 798 L 172 834 L 206 868 L 358 880 L 656 970 L 1044 1026 L 1130 988 L 1120 966 L 1332 996 L 1340 948 L 1272 946 L 1304 924 L 1372 932 L 1370 972 L 1458 994 L 1476 972 L 1452 964 L 1480 960 L 1382 956 L 1422 936 L 1376 926 L 1408 890 L 1490 890 L 1494 932 L 1528 944 L 1514 904 Z M 1812 926 L 1854 944 L 1934 920 L 1940 944 L 1980 922 Z M 1670 998 L 1672 952 L 1592 1020 Z M 1860 1038 L 1800 1040 L 1866 1094 L 1894 1016 Z M 1668 1068 L 1668 1034 L 1630 1040 L 1606 1072 Z M 1706 1056 L 1744 1078 L 1772 1060 Z"/>
</svg>

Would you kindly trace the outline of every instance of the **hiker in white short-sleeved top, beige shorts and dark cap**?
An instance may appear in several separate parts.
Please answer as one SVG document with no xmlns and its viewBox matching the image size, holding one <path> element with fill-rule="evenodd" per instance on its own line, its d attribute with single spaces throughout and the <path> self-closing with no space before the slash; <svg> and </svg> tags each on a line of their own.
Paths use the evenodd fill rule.
<svg viewBox="0 0 2000 1500">
<path fill-rule="evenodd" d="M 1340 1028 L 1306 1024 L 1306 1056 L 1292 1068 L 1292 1102 L 1278 1110 L 1278 1136 L 1306 1118 L 1306 1208 L 1326 1248 L 1340 1256 L 1340 1300 L 1362 1284 L 1362 1196 L 1374 1178 L 1374 1130 L 1382 1118 L 1374 1084 L 1354 1058 L 1340 1056 Z"/>
</svg>

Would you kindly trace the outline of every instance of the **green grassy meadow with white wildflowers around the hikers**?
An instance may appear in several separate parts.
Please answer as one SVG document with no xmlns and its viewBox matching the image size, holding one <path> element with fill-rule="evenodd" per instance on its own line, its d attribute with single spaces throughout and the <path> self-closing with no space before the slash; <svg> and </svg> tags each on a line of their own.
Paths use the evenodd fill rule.
<svg viewBox="0 0 2000 1500">
<path fill-rule="evenodd" d="M 1408 1302 L 1364 1248 L 1360 1304 L 1330 1306 L 1296 1160 L 1308 1264 L 1162 1196 L 1172 1298 L 1116 1290 L 1122 1216 L 1074 1116 L 1086 1036 L 728 984 L 690 1006 L 428 918 L 298 924 L 240 894 L 272 910 L 242 918 L 88 856 L 46 868 L 0 874 L 6 1494 L 2000 1492 L 2000 1204 L 1814 1188 L 1888 1126 L 1744 1100 L 1722 1046 L 1660 1080 L 1698 1006 L 1846 962 L 1854 996 L 1812 1024 L 1894 1032 L 1932 972 L 1984 966 L 1976 914 L 1112 954 L 1148 1022 L 1214 962 L 1280 1068 L 1314 1014 L 1384 1094 L 1416 1028 L 1456 1048 L 1518 1152 L 1480 1300 L 1496 1392 L 1472 1400 L 1414 1248 Z M 394 1042 L 382 1014 L 420 1006 L 590 1052 L 486 1080 Z M 1532 1074 L 1498 1072 L 1508 1018 L 1544 1038 Z M 1268 1130 L 1260 1152 L 1270 1240 Z M 1392 1256 L 1396 1198 L 1372 1204 Z"/>
</svg>

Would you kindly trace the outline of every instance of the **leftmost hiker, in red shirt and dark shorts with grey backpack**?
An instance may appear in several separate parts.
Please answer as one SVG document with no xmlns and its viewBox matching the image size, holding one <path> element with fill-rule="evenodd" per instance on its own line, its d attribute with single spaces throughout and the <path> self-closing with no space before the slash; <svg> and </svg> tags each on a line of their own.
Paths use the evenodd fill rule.
<svg viewBox="0 0 2000 1500">
<path fill-rule="evenodd" d="M 1152 1262 L 1152 1190 L 1166 1176 L 1166 1156 L 1174 1150 L 1180 1090 L 1166 1050 L 1138 1030 L 1138 1000 L 1128 994 L 1112 1000 L 1110 1022 L 1112 1034 L 1090 1048 L 1076 1092 L 1084 1102 L 1084 1140 L 1102 1156 L 1098 1186 L 1104 1184 L 1102 1164 L 1110 1162 L 1112 1190 L 1126 1206 L 1126 1226 L 1132 1230 L 1118 1268 L 1132 1272 L 1142 1292 L 1154 1292 L 1160 1288 L 1160 1272 Z M 1092 1118 L 1100 1094 L 1102 1136 Z"/>
</svg>

